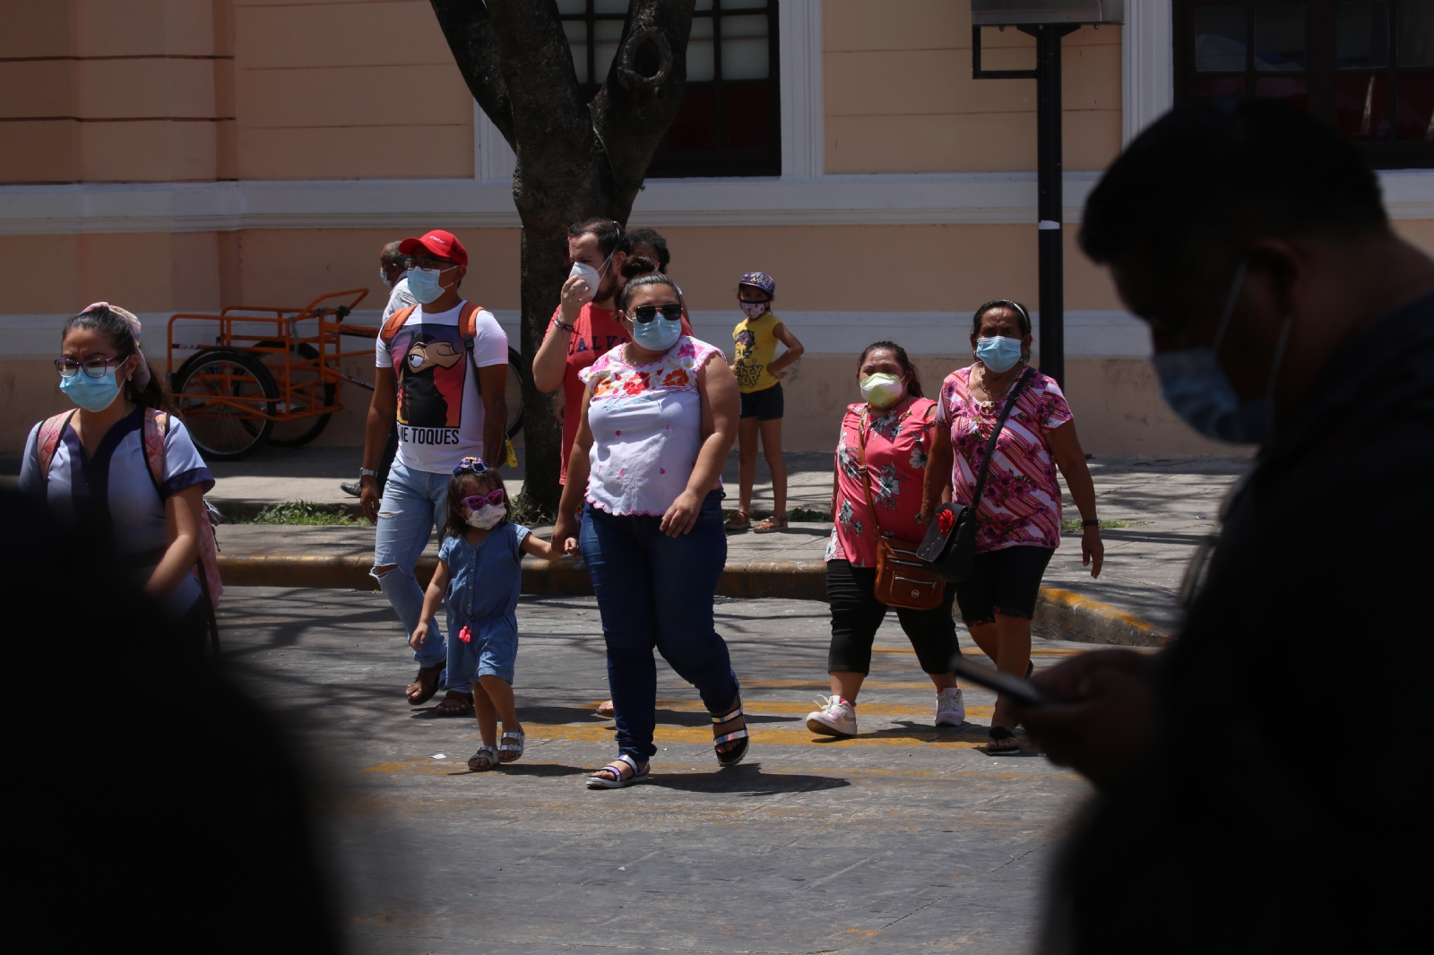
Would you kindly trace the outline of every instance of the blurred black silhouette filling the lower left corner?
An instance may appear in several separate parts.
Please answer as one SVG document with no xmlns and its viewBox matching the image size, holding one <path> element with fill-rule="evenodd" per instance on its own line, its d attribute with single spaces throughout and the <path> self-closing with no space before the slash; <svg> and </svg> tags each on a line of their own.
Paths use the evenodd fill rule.
<svg viewBox="0 0 1434 955">
<path fill-rule="evenodd" d="M 0 492 L 0 541 L 11 919 L 62 948 L 340 952 L 271 721 L 33 499 Z"/>
</svg>

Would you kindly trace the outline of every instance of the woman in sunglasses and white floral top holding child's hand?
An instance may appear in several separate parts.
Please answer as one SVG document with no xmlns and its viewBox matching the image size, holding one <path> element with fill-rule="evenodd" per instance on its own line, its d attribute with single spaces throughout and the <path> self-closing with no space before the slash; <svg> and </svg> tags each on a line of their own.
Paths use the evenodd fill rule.
<svg viewBox="0 0 1434 955">
<path fill-rule="evenodd" d="M 697 687 L 717 761 L 747 753 L 737 675 L 713 628 L 727 562 L 721 469 L 737 436 L 737 377 L 721 348 L 684 336 L 677 287 L 630 281 L 618 320 L 632 338 L 581 371 L 587 386 L 552 546 L 576 539 L 602 611 L 618 759 L 588 777 L 621 789 L 650 776 L 657 648 Z M 582 508 L 582 531 L 578 509 Z"/>
</svg>

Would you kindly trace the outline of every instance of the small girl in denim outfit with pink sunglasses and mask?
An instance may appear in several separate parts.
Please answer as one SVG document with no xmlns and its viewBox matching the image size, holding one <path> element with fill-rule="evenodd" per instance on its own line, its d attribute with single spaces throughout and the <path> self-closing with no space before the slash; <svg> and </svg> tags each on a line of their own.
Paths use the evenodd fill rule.
<svg viewBox="0 0 1434 955">
<path fill-rule="evenodd" d="M 521 562 L 523 553 L 551 561 L 556 552 L 528 528 L 508 522 L 503 479 L 478 457 L 465 457 L 453 469 L 447 508 L 439 566 L 409 645 L 423 645 L 439 604 L 446 601 L 457 631 L 449 640 L 449 685 L 473 681 L 473 713 L 483 744 L 467 767 L 480 771 L 523 754 L 523 727 L 513 708 Z M 499 717 L 503 738 L 495 749 Z"/>
</svg>

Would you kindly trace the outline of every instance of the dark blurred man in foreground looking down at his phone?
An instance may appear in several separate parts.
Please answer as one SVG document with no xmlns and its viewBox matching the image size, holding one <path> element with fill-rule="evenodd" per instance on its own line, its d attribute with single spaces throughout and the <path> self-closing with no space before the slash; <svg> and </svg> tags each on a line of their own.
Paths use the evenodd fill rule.
<svg viewBox="0 0 1434 955">
<path fill-rule="evenodd" d="M 1275 100 L 1157 122 L 1080 241 L 1172 407 L 1260 453 L 1176 644 L 1071 660 L 1021 710 L 1098 790 L 1045 951 L 1388 951 L 1427 830 L 1434 261 L 1355 148 Z"/>
</svg>

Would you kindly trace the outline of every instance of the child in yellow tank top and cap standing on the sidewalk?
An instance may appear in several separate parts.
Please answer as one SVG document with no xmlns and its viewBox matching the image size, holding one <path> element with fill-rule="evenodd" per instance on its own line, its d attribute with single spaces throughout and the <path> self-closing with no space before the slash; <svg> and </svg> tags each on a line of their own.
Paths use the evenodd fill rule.
<svg viewBox="0 0 1434 955">
<path fill-rule="evenodd" d="M 741 417 L 737 422 L 739 496 L 737 512 L 727 521 L 728 531 L 770 533 L 787 526 L 787 462 L 782 456 L 782 416 L 784 397 L 782 379 L 802 357 L 802 343 L 771 313 L 777 284 L 766 272 L 747 272 L 737 284 L 737 305 L 746 318 L 733 330 L 737 343 L 737 389 L 741 391 Z M 777 343 L 786 351 L 777 354 Z M 771 469 L 770 518 L 751 525 L 751 485 L 757 478 L 757 440 Z"/>
</svg>

